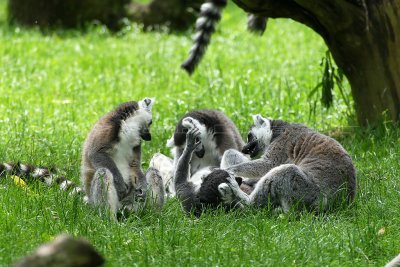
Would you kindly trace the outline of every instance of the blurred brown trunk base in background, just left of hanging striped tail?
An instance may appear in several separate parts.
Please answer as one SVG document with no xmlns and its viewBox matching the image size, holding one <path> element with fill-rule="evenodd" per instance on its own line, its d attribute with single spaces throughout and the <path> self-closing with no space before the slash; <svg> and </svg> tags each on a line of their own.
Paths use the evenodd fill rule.
<svg viewBox="0 0 400 267">
<path fill-rule="evenodd" d="M 128 18 L 146 29 L 167 26 L 172 30 L 186 30 L 196 21 L 205 0 L 153 0 L 147 5 L 132 2 Z"/>
</svg>

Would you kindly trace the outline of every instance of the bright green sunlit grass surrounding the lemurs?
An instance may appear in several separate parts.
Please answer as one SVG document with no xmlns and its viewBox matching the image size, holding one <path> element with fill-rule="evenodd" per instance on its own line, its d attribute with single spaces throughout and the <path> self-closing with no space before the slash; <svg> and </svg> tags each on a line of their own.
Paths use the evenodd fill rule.
<svg viewBox="0 0 400 267">
<path fill-rule="evenodd" d="M 400 130 L 355 127 L 337 91 L 330 110 L 319 96 L 309 99 L 327 49 L 309 29 L 271 20 L 264 36 L 253 36 L 231 6 L 189 77 L 179 65 L 190 33 L 132 26 L 116 35 L 102 27 L 42 34 L 7 26 L 4 10 L 2 0 L 0 161 L 57 166 L 78 182 L 81 145 L 95 121 L 121 102 L 152 96 L 144 167 L 154 153 L 169 154 L 165 143 L 181 115 L 209 107 L 226 112 L 244 136 L 255 113 L 331 133 L 352 155 L 359 184 L 350 208 L 321 216 L 251 210 L 195 220 L 171 200 L 161 213 L 116 223 L 56 188 L 31 184 L 26 192 L 0 178 L 1 266 L 59 233 L 89 239 L 106 266 L 382 266 L 400 252 Z"/>
</svg>

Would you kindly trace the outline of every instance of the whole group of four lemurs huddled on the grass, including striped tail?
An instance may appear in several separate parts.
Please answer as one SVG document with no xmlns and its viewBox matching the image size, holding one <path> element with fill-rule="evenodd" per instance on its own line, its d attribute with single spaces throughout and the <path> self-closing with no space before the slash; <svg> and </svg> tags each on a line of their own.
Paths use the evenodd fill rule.
<svg viewBox="0 0 400 267">
<path fill-rule="evenodd" d="M 141 143 L 152 139 L 154 103 L 123 103 L 99 119 L 83 145 L 82 187 L 25 164 L 0 164 L 0 173 L 58 183 L 115 218 L 143 207 L 162 209 L 172 197 L 195 216 L 249 206 L 321 212 L 355 197 L 354 165 L 331 137 L 253 115 L 245 143 L 232 120 L 214 109 L 184 114 L 166 142 L 172 158 L 157 153 L 144 172 Z"/>
</svg>

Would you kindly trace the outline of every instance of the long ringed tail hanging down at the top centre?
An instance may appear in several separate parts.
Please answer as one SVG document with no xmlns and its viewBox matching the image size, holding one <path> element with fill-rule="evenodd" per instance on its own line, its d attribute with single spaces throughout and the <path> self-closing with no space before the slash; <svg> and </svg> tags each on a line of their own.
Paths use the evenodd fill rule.
<svg viewBox="0 0 400 267">
<path fill-rule="evenodd" d="M 181 65 L 189 74 L 193 73 L 203 58 L 210 43 L 211 35 L 215 31 L 215 26 L 221 19 L 222 9 L 226 4 L 227 0 L 210 0 L 201 5 L 200 16 L 196 21 L 194 44 L 189 52 L 189 58 Z"/>
</svg>

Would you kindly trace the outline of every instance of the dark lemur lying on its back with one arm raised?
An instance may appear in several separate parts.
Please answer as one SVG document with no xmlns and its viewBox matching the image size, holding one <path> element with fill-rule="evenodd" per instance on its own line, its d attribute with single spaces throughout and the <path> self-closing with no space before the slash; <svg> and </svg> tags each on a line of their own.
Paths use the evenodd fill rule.
<svg viewBox="0 0 400 267">
<path fill-rule="evenodd" d="M 216 208 L 220 205 L 225 208 L 231 208 L 236 203 L 224 204 L 218 186 L 221 183 L 228 182 L 230 174 L 225 170 L 214 169 L 207 173 L 203 173 L 203 177 L 197 181 L 191 181 L 190 168 L 191 158 L 196 152 L 196 148 L 201 145 L 201 132 L 197 127 L 192 127 L 185 134 L 185 148 L 178 159 L 175 169 L 174 182 L 176 196 L 181 201 L 183 209 L 194 215 L 200 216 L 207 208 Z M 235 177 L 232 177 L 235 179 Z M 241 183 L 241 179 L 237 179 L 237 183 Z"/>
</svg>

